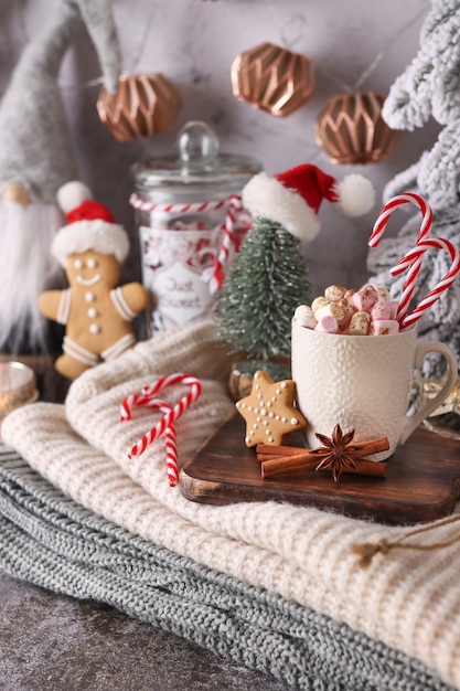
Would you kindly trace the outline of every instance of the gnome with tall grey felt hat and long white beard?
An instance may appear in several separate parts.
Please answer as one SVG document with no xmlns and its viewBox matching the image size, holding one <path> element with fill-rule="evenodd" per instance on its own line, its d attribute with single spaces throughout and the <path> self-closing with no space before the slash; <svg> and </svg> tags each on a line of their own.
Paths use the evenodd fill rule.
<svg viewBox="0 0 460 691">
<path fill-rule="evenodd" d="M 0 351 L 50 350 L 38 298 L 64 278 L 50 252 L 63 223 L 55 199 L 61 185 L 78 178 L 57 77 L 82 24 L 105 87 L 115 93 L 121 67 L 111 0 L 60 0 L 24 49 L 0 103 Z"/>
</svg>

